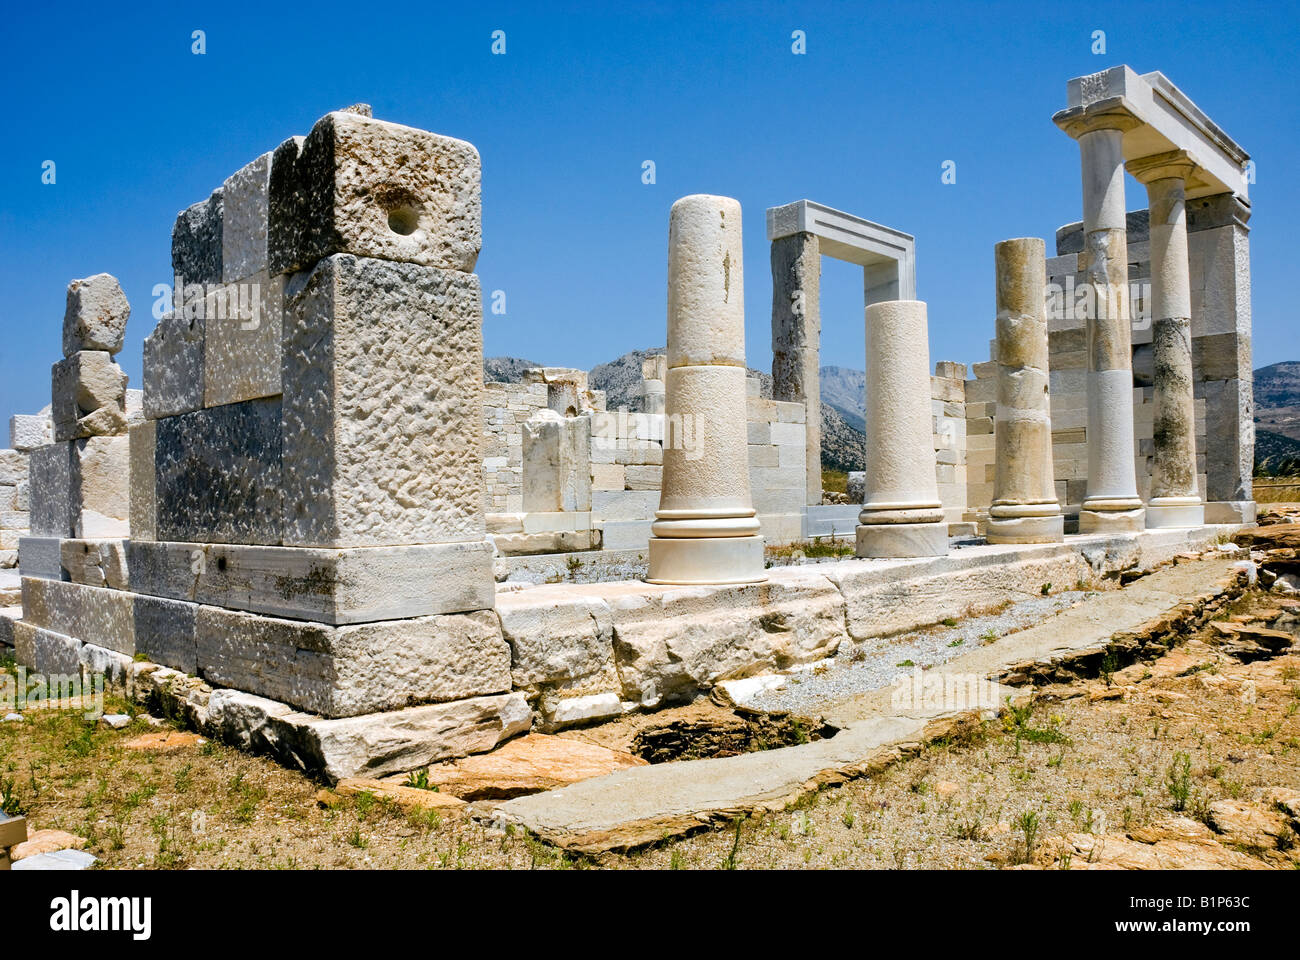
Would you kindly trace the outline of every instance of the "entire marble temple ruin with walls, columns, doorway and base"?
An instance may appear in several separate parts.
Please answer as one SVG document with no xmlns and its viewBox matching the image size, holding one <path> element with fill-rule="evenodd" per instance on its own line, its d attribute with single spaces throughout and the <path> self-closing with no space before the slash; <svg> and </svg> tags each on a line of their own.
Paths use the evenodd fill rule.
<svg viewBox="0 0 1300 960">
<path fill-rule="evenodd" d="M 764 395 L 741 207 L 694 195 L 668 215 L 667 351 L 628 411 L 578 369 L 485 384 L 476 148 L 329 113 L 177 217 L 143 395 L 114 362 L 117 281 L 69 286 L 49 410 L 0 451 L 21 575 L 0 643 L 286 764 L 378 775 L 1249 523 L 1248 157 L 1127 66 L 1070 81 L 1053 120 L 1082 222 L 1050 256 L 996 245 L 972 376 L 931 368 L 914 238 L 800 200 L 766 211 Z M 863 268 L 853 503 L 822 490 L 822 256 Z M 811 539 L 855 557 L 800 562 Z"/>
</svg>

